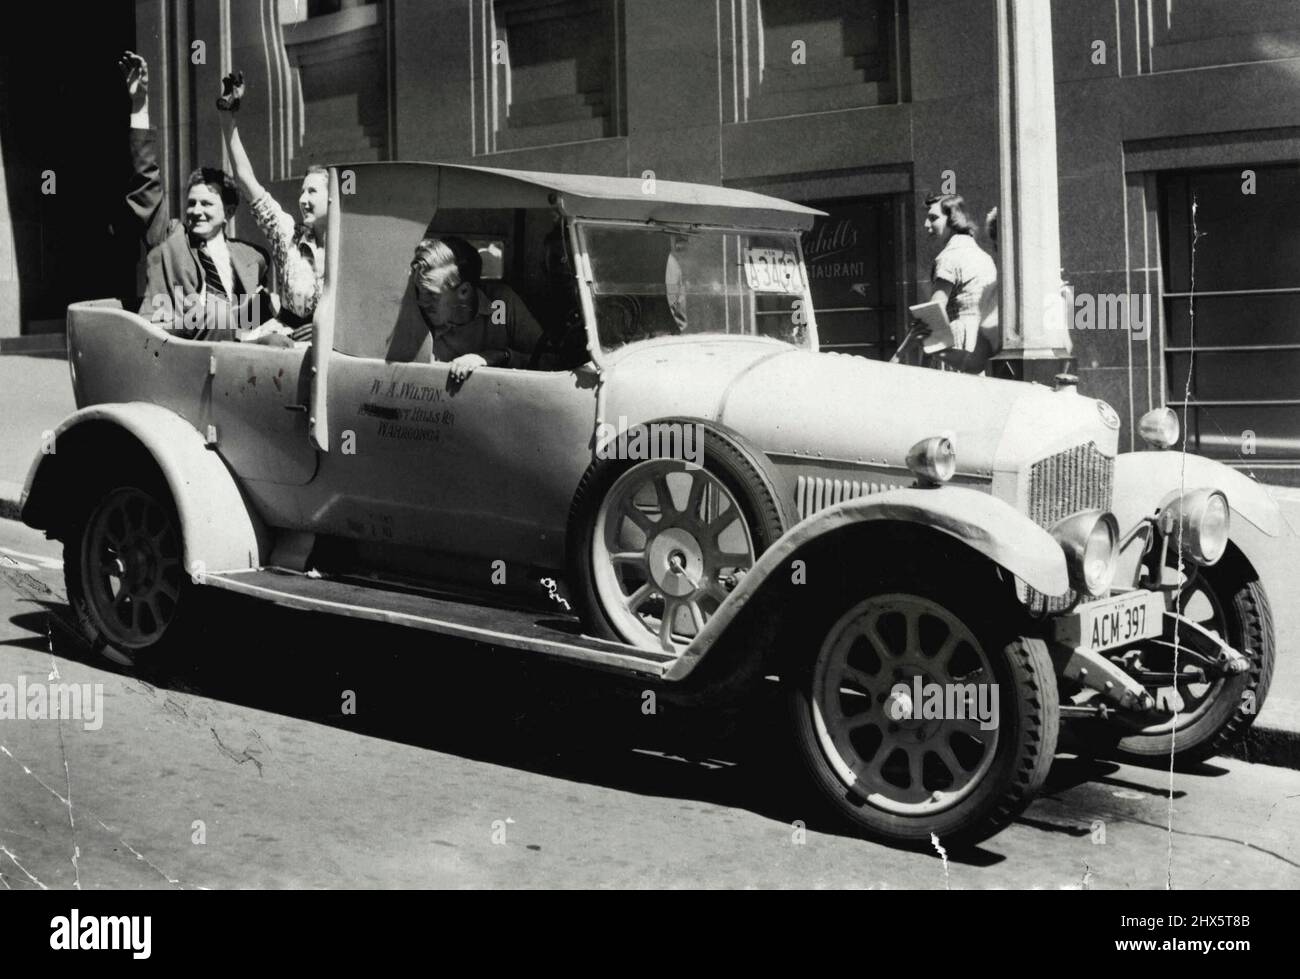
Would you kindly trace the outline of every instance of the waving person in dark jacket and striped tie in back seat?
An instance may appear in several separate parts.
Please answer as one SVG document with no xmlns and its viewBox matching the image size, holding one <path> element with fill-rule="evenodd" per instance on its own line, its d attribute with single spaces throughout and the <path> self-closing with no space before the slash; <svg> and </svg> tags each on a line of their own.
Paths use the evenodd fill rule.
<svg viewBox="0 0 1300 979">
<path fill-rule="evenodd" d="M 131 185 L 126 207 L 150 248 L 140 316 L 186 339 L 237 339 L 274 316 L 269 261 L 254 244 L 226 237 L 239 204 L 230 177 L 200 168 L 186 182 L 185 222 L 162 209 L 162 177 L 148 117 L 148 65 L 120 61 L 131 96 Z"/>
</svg>

